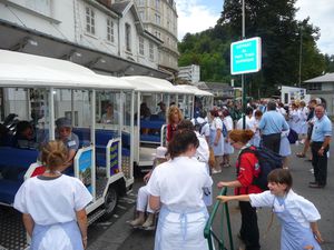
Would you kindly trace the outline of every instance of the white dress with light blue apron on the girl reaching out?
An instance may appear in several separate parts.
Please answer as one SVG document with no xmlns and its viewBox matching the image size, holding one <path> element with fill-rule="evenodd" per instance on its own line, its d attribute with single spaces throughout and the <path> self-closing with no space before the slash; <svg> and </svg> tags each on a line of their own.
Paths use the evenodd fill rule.
<svg viewBox="0 0 334 250">
<path fill-rule="evenodd" d="M 314 239 L 310 222 L 321 219 L 312 202 L 289 190 L 285 197 L 276 197 L 271 191 L 249 194 L 253 207 L 272 207 L 282 224 L 281 249 L 302 250 L 313 246 L 313 250 L 321 250 Z"/>
</svg>

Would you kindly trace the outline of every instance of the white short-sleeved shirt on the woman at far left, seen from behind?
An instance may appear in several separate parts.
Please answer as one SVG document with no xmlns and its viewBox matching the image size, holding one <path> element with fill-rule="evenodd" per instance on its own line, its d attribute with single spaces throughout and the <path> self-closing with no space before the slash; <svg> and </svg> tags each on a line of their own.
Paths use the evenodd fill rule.
<svg viewBox="0 0 334 250">
<path fill-rule="evenodd" d="M 76 220 L 92 197 L 84 183 L 66 174 L 53 180 L 33 177 L 23 182 L 14 198 L 14 209 L 29 213 L 41 226 Z"/>
</svg>

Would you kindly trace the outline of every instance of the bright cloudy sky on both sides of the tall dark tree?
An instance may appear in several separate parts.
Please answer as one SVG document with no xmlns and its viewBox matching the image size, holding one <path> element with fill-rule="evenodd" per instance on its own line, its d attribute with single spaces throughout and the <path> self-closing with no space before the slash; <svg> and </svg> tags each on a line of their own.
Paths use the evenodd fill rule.
<svg viewBox="0 0 334 250">
<path fill-rule="evenodd" d="M 176 0 L 178 12 L 178 39 L 214 27 L 220 17 L 224 0 Z M 297 0 L 296 18 L 310 17 L 310 22 L 321 28 L 317 47 L 323 53 L 334 54 L 334 1 Z"/>
</svg>

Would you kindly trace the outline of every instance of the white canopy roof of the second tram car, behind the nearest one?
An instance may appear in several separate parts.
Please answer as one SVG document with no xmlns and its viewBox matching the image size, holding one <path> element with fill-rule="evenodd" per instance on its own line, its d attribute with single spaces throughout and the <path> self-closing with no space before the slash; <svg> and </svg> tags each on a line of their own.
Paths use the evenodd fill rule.
<svg viewBox="0 0 334 250">
<path fill-rule="evenodd" d="M 153 77 L 122 77 L 121 79 L 128 81 L 140 92 L 157 92 L 157 93 L 178 93 L 178 94 L 194 94 L 193 91 L 179 89 L 169 81 Z"/>
</svg>

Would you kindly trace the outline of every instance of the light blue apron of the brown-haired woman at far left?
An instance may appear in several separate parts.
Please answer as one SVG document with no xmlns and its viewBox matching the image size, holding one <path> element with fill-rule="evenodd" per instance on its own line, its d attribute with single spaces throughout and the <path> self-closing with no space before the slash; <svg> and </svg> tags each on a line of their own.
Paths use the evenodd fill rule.
<svg viewBox="0 0 334 250">
<path fill-rule="evenodd" d="M 77 221 L 35 224 L 30 250 L 84 250 Z"/>
</svg>

